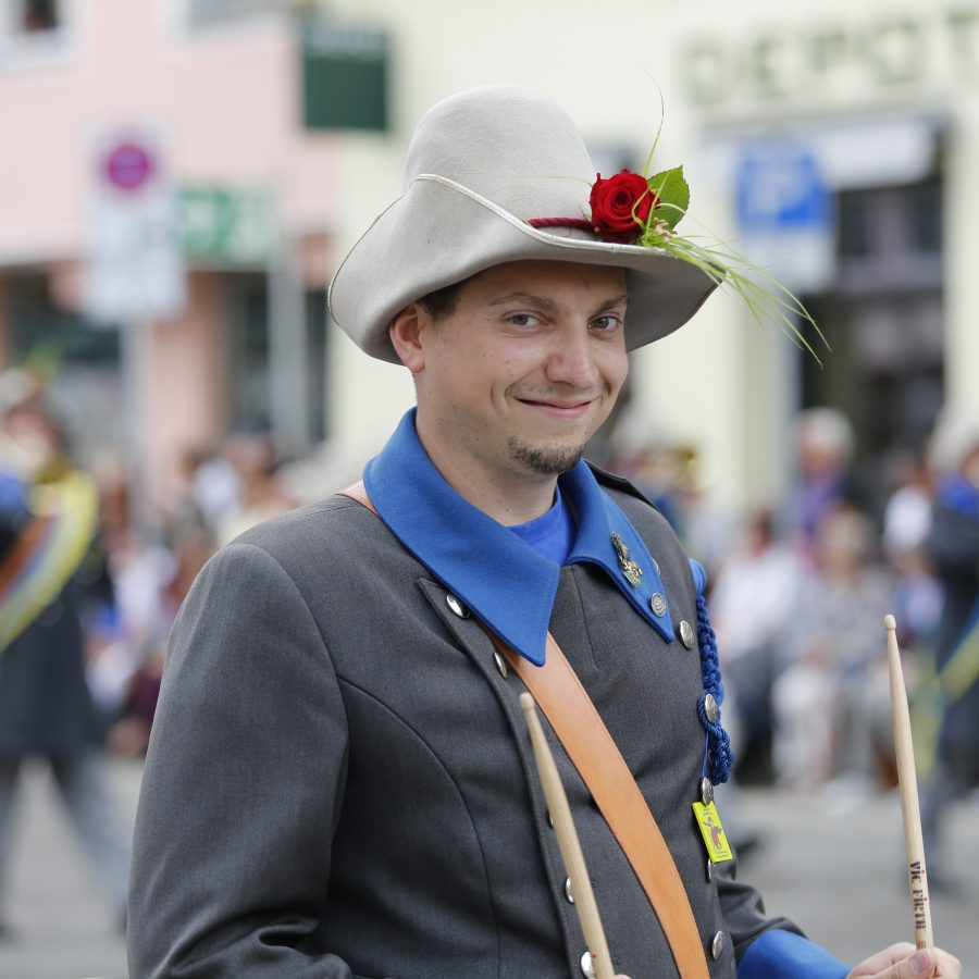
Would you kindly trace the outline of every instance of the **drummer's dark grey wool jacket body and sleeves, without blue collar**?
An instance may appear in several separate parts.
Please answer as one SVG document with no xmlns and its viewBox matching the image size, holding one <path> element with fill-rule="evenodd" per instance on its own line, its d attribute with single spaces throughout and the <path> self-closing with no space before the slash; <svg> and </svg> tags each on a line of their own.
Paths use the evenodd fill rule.
<svg viewBox="0 0 979 979">
<path fill-rule="evenodd" d="M 619 485 L 619 484 L 616 484 Z M 696 621 L 660 515 L 606 486 Z M 520 681 L 381 520 L 345 497 L 206 567 L 173 630 L 139 801 L 132 979 L 558 979 L 584 940 L 537 781 Z M 696 650 L 588 565 L 550 630 L 619 744 L 685 883 L 711 976 L 772 927 L 732 864 L 708 879 L 691 803 Z M 655 914 L 546 728 L 617 972 L 676 976 Z M 711 955 L 718 932 L 720 954 Z"/>
</svg>

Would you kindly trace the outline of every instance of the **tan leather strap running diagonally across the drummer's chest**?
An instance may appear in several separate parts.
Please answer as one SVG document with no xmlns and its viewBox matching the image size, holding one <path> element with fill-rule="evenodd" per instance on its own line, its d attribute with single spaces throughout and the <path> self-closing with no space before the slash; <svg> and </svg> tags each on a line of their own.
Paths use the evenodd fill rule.
<svg viewBox="0 0 979 979">
<path fill-rule="evenodd" d="M 340 494 L 377 512 L 362 482 Z M 706 979 L 707 959 L 680 871 L 622 753 L 561 647 L 548 632 L 544 666 L 536 667 L 483 628 L 544 711 L 619 841 L 659 919 L 680 975 Z"/>
</svg>

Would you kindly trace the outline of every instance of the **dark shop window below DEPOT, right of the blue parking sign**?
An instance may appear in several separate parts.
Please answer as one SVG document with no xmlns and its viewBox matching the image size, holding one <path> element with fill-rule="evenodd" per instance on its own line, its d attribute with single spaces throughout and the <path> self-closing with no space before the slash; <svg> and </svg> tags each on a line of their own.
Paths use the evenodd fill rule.
<svg viewBox="0 0 979 979">
<path fill-rule="evenodd" d="M 882 504 L 888 460 L 920 455 L 944 400 L 942 184 L 839 195 L 839 274 L 806 303 L 830 370 L 801 358 L 802 407 L 832 405 L 857 435 L 865 501 Z"/>
</svg>

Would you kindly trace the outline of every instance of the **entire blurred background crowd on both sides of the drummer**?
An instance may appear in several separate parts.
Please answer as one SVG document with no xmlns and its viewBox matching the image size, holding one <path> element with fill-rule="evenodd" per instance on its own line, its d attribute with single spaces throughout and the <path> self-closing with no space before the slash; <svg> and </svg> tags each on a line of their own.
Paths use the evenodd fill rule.
<svg viewBox="0 0 979 979">
<path fill-rule="evenodd" d="M 855 475 L 840 412 L 803 412 L 793 444 L 788 499 L 735 518 L 712 508 L 692 448 L 646 431 L 614 437 L 603 461 L 707 566 L 740 782 L 819 791 L 831 805 L 894 783 L 882 623 L 896 617 L 937 847 L 941 806 L 928 800 L 979 783 L 979 654 L 974 672 L 957 657 L 954 689 L 943 673 L 979 607 L 979 419 L 942 417 L 927 457 L 897 459 L 882 498 Z M 137 515 L 125 466 L 86 471 L 73 458 L 44 379 L 0 377 L 0 899 L 20 761 L 39 754 L 124 915 L 127 853 L 110 839 L 95 763 L 146 751 L 166 637 L 208 558 L 355 478 L 329 455 L 286 462 L 267 434 L 236 433 L 188 451 Z"/>
</svg>

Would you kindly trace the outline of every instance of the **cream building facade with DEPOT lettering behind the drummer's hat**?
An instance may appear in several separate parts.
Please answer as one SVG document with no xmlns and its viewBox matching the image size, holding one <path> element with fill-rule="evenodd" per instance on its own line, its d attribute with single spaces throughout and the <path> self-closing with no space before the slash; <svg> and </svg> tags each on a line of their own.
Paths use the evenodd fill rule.
<svg viewBox="0 0 979 979">
<path fill-rule="evenodd" d="M 683 163 L 693 191 L 681 227 L 732 241 L 806 301 L 832 346 L 821 365 L 722 296 L 635 357 L 631 408 L 696 448 L 722 504 L 783 497 L 803 407 L 850 417 L 875 494 L 891 461 L 921 450 L 940 406 L 979 412 L 979 3 L 746 0 L 736 17 L 719 2 L 631 0 L 614 12 L 503 0 L 464 16 L 441 0 L 331 9 L 386 24 L 398 51 L 397 151 L 343 148 L 340 238 L 365 225 L 380 188 L 398 193 L 429 104 L 518 80 L 568 108 L 596 160 L 641 168 L 662 121 L 654 168 Z M 362 389 L 376 369 L 342 354 L 344 384 Z M 375 424 L 355 421 L 351 437 L 370 441 Z"/>
</svg>

